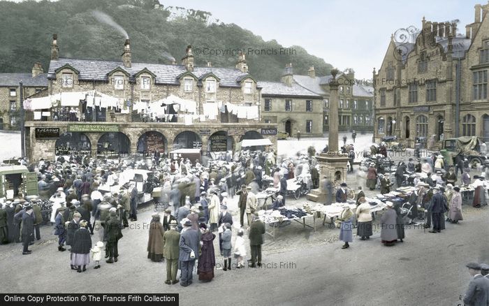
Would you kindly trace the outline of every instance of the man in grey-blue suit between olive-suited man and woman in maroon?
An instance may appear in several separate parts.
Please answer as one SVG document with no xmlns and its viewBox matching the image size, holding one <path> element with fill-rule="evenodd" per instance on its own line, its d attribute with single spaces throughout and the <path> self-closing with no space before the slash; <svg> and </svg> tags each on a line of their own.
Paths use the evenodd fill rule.
<svg viewBox="0 0 489 306">
<path fill-rule="evenodd" d="M 180 261 L 180 285 L 186 287 L 192 284 L 192 273 L 194 272 L 194 266 L 196 259 L 198 259 L 198 232 L 191 228 L 192 223 L 188 219 L 182 220 L 183 230 L 180 234 L 180 254 L 178 261 Z"/>
</svg>

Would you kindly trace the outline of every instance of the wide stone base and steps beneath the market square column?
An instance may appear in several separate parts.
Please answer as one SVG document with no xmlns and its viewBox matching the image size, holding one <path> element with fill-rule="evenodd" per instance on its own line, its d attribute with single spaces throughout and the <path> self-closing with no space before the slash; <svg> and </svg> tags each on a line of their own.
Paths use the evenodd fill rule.
<svg viewBox="0 0 489 306">
<path fill-rule="evenodd" d="M 326 203 L 328 191 L 323 187 L 325 179 L 332 182 L 333 187 L 336 184 L 346 182 L 346 164 L 350 159 L 346 154 L 328 152 L 317 155 L 316 160 L 319 163 L 319 175 L 321 177 L 320 187 L 318 189 L 312 189 L 311 192 L 306 195 L 306 198 L 307 200 L 316 203 Z M 335 195 L 332 196 L 334 199 Z"/>
</svg>

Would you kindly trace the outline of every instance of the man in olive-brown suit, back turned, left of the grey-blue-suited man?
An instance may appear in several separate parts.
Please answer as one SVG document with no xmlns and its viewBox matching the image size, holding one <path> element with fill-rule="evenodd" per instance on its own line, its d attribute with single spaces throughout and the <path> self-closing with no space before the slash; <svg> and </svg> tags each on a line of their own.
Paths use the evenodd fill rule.
<svg viewBox="0 0 489 306">
<path fill-rule="evenodd" d="M 170 210 L 171 211 L 171 210 Z M 166 212 L 166 211 L 165 211 Z M 173 217 L 170 214 L 170 217 Z M 165 284 L 177 284 L 178 258 L 180 255 L 180 233 L 177 231 L 177 220 L 173 218 L 169 229 L 163 234 L 163 257 L 166 258 Z"/>
</svg>

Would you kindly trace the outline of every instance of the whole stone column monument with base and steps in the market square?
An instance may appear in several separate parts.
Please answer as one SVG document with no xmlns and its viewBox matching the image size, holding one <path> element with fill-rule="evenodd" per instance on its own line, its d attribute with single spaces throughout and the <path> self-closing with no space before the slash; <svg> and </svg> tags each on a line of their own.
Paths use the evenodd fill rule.
<svg viewBox="0 0 489 306">
<path fill-rule="evenodd" d="M 337 69 L 331 71 L 333 78 L 330 80 L 330 111 L 329 111 L 329 133 L 328 133 L 328 152 L 316 155 L 319 163 L 319 189 L 313 189 L 307 194 L 307 200 L 326 203 L 328 190 L 324 188 L 325 183 L 329 180 L 335 184 L 346 182 L 346 163 L 349 158 L 338 150 L 338 82 L 336 80 Z M 334 202 L 334 196 L 331 195 Z"/>
</svg>

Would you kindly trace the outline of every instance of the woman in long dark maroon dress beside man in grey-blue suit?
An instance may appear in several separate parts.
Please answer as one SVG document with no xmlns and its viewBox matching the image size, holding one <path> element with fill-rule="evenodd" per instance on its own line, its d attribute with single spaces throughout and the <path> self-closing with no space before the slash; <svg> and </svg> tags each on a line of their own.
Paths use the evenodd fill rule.
<svg viewBox="0 0 489 306">
<path fill-rule="evenodd" d="M 216 235 L 211 233 L 207 226 L 200 224 L 200 256 L 198 257 L 197 274 L 202 282 L 210 282 L 214 278 L 216 256 L 214 256 L 213 241 Z"/>
</svg>

